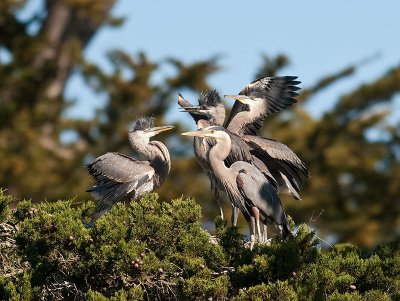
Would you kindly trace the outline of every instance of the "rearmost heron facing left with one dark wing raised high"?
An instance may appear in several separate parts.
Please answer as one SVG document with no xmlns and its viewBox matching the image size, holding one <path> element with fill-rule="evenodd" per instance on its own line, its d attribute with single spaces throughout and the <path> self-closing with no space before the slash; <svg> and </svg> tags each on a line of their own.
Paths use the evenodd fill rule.
<svg viewBox="0 0 400 301">
<path fill-rule="evenodd" d="M 296 76 L 261 77 L 246 85 L 238 95 L 225 95 L 235 99 L 227 118 L 226 128 L 241 136 L 252 148 L 251 153 L 270 169 L 280 192 L 301 200 L 300 190 L 310 178 L 307 166 L 285 144 L 257 136 L 269 115 L 294 103 L 300 90 Z"/>
</svg>

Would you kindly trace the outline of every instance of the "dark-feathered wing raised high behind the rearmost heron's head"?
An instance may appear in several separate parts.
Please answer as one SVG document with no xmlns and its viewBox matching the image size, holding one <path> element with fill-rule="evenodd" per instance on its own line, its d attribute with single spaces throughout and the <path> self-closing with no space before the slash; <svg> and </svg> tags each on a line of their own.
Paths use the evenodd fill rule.
<svg viewBox="0 0 400 301">
<path fill-rule="evenodd" d="M 296 76 L 260 77 L 239 92 L 239 95 L 263 98 L 267 105 L 266 115 L 247 125 L 245 134 L 255 135 L 262 128 L 267 116 L 282 111 L 297 102 L 294 97 L 298 95 L 296 91 L 300 90 L 300 87 L 297 86 L 300 81 L 296 81 L 296 79 Z M 247 105 L 236 100 L 226 126 L 229 125 L 235 115 L 246 110 L 248 110 Z"/>
</svg>

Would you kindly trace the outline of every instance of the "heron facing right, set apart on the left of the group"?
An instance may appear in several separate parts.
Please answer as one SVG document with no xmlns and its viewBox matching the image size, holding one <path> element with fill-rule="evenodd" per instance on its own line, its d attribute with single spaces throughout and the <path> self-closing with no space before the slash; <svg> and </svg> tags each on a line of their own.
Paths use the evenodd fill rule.
<svg viewBox="0 0 400 301">
<path fill-rule="evenodd" d="M 92 227 L 117 202 L 129 202 L 159 188 L 171 169 L 167 147 L 151 137 L 174 126 L 154 126 L 154 118 L 144 117 L 134 122 L 128 133 L 133 150 L 147 157 L 139 161 L 118 152 L 108 152 L 86 166 L 96 181 L 88 189 L 96 201 L 88 227 Z"/>
</svg>

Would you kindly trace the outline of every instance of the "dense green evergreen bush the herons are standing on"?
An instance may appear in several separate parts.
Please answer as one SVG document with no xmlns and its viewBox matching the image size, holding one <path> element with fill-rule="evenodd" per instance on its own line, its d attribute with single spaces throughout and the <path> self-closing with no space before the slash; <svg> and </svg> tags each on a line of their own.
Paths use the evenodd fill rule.
<svg viewBox="0 0 400 301">
<path fill-rule="evenodd" d="M 400 300 L 400 244 L 365 253 L 317 246 L 300 225 L 287 242 L 245 246 L 193 199 L 149 194 L 87 229 L 92 202 L 32 205 L 0 191 L 0 300 Z"/>
</svg>

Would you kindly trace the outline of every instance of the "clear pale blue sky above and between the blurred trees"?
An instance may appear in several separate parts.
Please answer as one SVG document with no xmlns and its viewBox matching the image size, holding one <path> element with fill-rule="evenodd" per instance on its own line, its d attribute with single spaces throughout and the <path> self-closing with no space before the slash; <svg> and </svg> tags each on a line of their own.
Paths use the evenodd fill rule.
<svg viewBox="0 0 400 301">
<path fill-rule="evenodd" d="M 210 77 L 210 83 L 221 94 L 237 93 L 251 81 L 263 53 L 288 55 L 291 65 L 281 74 L 299 76 L 303 87 L 379 54 L 356 76 L 318 94 L 307 105 L 317 117 L 339 95 L 400 63 L 397 0 L 119 0 L 113 12 L 125 17 L 125 24 L 101 29 L 85 51 L 87 59 L 107 69 L 106 53 L 118 48 L 131 54 L 144 51 L 156 61 L 176 57 L 194 62 L 218 54 L 222 70 Z M 157 76 L 169 71 L 160 70 Z M 77 102 L 68 111 L 72 117 L 90 118 L 94 108 L 105 101 L 85 88 L 77 76 L 70 80 L 66 95 Z M 395 107 L 400 110 L 397 100 Z M 175 107 L 171 112 L 171 119 L 182 118 L 174 113 Z"/>
</svg>

